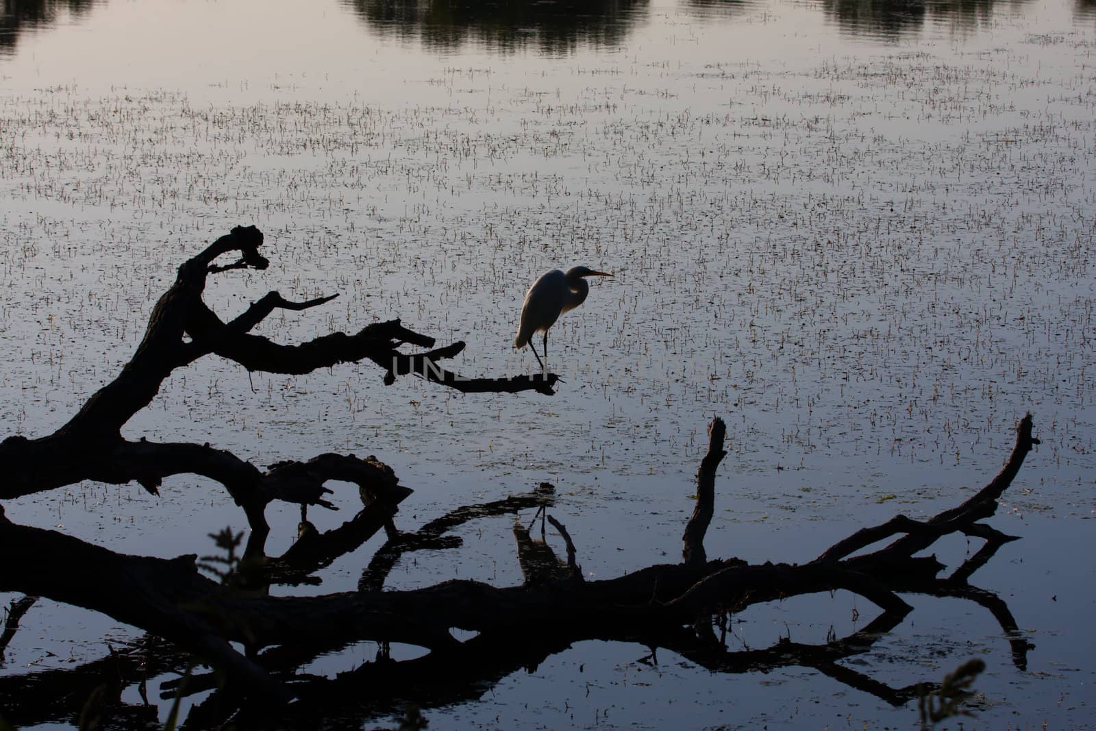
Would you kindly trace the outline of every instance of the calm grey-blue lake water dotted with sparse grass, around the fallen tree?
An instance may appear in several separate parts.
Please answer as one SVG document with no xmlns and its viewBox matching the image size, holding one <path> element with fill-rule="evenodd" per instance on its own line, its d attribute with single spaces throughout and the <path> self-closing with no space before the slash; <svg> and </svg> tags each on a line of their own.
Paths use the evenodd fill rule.
<svg viewBox="0 0 1096 731">
<path fill-rule="evenodd" d="M 3 11 L 8 433 L 67 421 L 128 359 L 179 263 L 238 224 L 266 233 L 272 266 L 219 277 L 206 301 L 220 313 L 270 289 L 339 293 L 260 332 L 299 342 L 400 317 L 443 344 L 467 341 L 454 362 L 465 375 L 534 370 L 511 349 L 525 289 L 548 269 L 604 269 L 616 276 L 551 330 L 549 367 L 566 380 L 555 397 L 385 387 L 372 365 L 290 378 L 205 361 L 176 372 L 127 435 L 210 442 L 259 465 L 376 454 L 415 490 L 407 528 L 550 481 L 579 562 L 608 578 L 680 556 L 713 414 L 730 454 L 709 555 L 807 561 L 859 526 L 960 502 L 1031 411 L 1042 445 L 990 521 L 1023 540 L 973 579 L 1035 643 L 1026 670 L 984 608 L 923 596 L 845 664 L 902 687 L 980 656 L 962 728 L 1096 726 L 1093 3 Z M 310 517 L 336 525 L 355 501 L 345 491 L 342 513 Z M 222 490 L 189 478 L 161 499 L 89 483 L 4 510 L 157 556 L 208 551 L 207 533 L 246 525 Z M 269 513 L 277 552 L 298 515 Z M 389 585 L 518 583 L 511 527 L 469 524 L 463 549 L 420 553 Z M 320 591 L 356 586 L 376 545 L 330 567 Z M 955 564 L 979 547 L 937 555 Z M 742 647 L 823 642 L 872 616 L 838 593 L 752 608 L 732 629 Z M 42 603 L 0 673 L 92 660 L 104 638 L 133 636 Z M 334 675 L 374 653 L 362 644 L 308 670 Z M 811 669 L 710 674 L 669 652 L 639 664 L 646 654 L 582 643 L 426 717 L 501 729 L 917 721 L 915 703 Z"/>
</svg>

